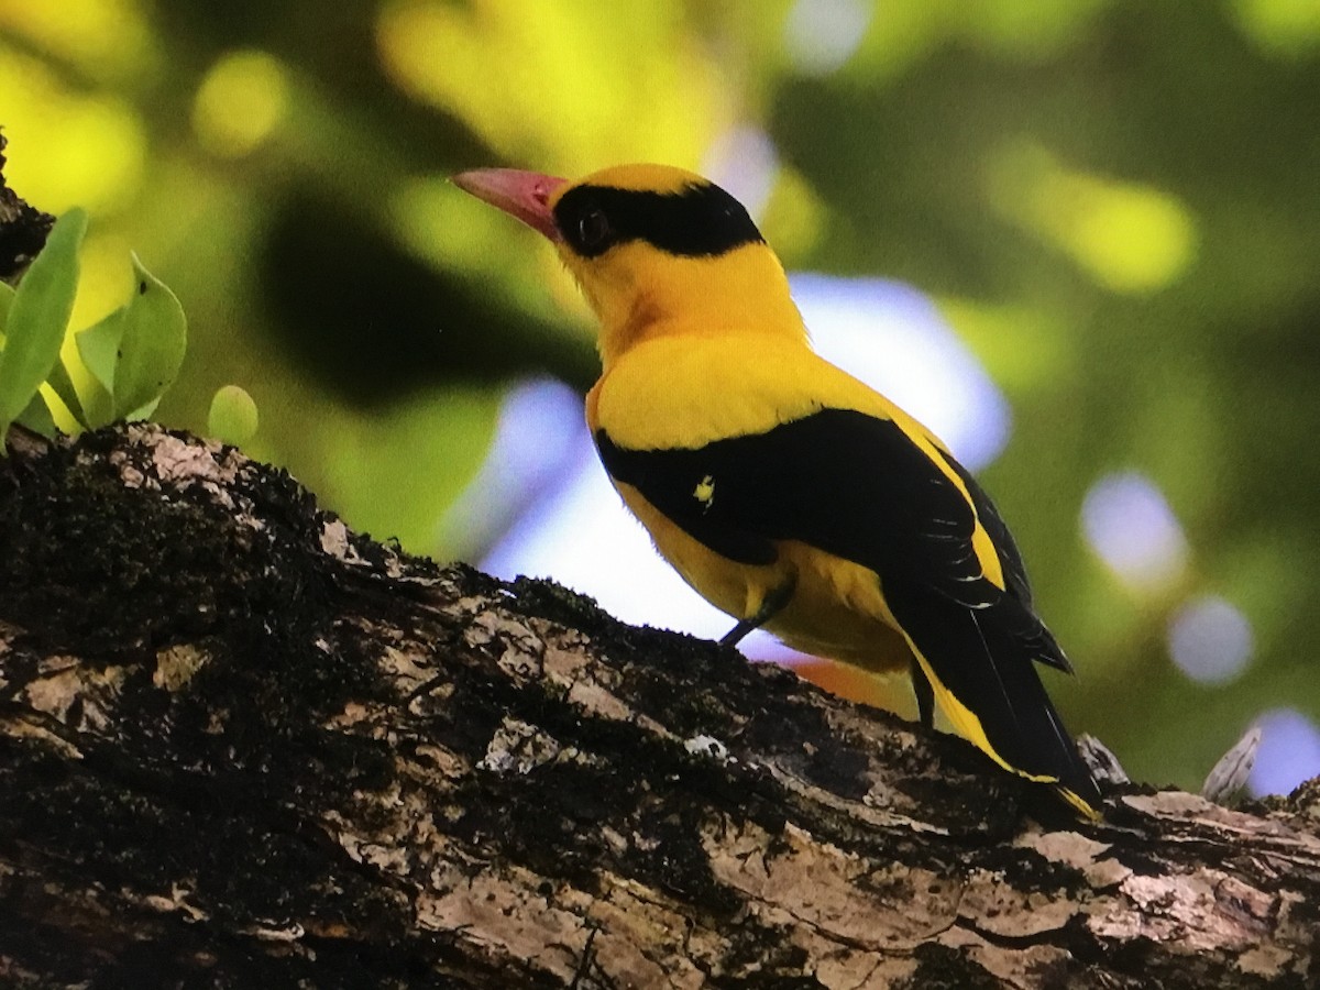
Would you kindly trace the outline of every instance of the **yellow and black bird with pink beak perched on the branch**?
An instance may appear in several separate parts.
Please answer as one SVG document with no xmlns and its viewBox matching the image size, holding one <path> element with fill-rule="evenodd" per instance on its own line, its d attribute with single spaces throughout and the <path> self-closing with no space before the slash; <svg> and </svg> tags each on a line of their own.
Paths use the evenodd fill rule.
<svg viewBox="0 0 1320 990">
<path fill-rule="evenodd" d="M 586 420 L 627 508 L 697 593 L 789 647 L 907 672 L 1006 771 L 1101 796 L 1038 664 L 1072 673 L 990 498 L 931 430 L 812 350 L 747 210 L 668 165 L 453 177 L 549 239 L 599 323 Z"/>
</svg>

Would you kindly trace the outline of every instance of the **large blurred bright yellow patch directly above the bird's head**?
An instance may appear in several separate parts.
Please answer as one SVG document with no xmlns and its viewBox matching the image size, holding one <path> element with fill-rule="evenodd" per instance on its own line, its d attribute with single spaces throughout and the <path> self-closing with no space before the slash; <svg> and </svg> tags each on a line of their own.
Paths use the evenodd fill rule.
<svg viewBox="0 0 1320 990">
<path fill-rule="evenodd" d="M 391 0 L 376 40 L 400 86 L 506 160 L 570 174 L 611 161 L 696 162 L 729 111 L 678 8 L 624 0 L 599 13 L 582 0 Z M 631 125 L 639 112 L 644 128 Z"/>
</svg>

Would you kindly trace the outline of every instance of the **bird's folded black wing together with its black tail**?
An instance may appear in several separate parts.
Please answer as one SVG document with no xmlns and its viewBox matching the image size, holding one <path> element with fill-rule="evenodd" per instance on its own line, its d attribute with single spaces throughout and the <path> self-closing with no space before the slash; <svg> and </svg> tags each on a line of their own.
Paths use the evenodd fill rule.
<svg viewBox="0 0 1320 990">
<path fill-rule="evenodd" d="M 890 610 L 942 685 L 981 721 L 1005 760 L 1084 796 L 1077 762 L 1032 660 L 1068 661 L 1031 605 L 1022 556 L 990 499 L 945 457 L 968 498 L 892 420 L 822 409 L 700 449 L 627 450 L 595 436 L 606 470 L 715 553 L 775 560 L 800 540 L 876 573 Z M 982 573 L 975 521 L 1005 587 Z"/>
</svg>

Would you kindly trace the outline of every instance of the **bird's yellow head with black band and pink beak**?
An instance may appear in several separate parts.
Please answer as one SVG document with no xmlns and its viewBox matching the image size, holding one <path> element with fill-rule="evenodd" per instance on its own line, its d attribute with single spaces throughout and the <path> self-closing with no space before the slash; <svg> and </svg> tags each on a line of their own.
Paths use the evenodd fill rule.
<svg viewBox="0 0 1320 990">
<path fill-rule="evenodd" d="M 661 334 L 805 334 L 756 224 L 701 176 L 619 165 L 576 182 L 515 169 L 454 182 L 554 244 L 601 321 L 606 367 Z"/>
</svg>

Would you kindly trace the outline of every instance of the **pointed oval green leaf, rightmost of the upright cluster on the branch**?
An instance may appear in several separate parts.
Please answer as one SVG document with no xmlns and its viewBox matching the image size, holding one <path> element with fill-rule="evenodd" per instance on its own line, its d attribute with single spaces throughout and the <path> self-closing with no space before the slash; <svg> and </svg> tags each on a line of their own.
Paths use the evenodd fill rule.
<svg viewBox="0 0 1320 990">
<path fill-rule="evenodd" d="M 115 366 L 115 416 L 154 403 L 173 384 L 187 350 L 187 321 L 178 298 L 133 255 L 137 277 L 124 308 Z M 94 372 L 95 374 L 95 372 Z"/>
</svg>

